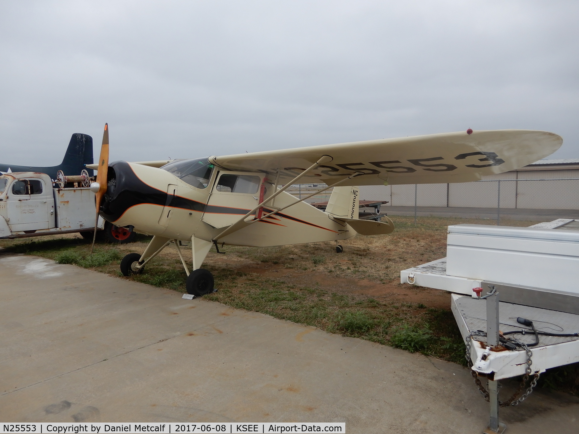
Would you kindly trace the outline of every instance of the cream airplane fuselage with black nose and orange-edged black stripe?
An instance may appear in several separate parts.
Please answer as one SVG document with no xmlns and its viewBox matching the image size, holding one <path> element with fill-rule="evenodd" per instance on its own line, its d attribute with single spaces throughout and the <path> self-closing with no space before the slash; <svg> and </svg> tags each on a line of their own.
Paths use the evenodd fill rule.
<svg viewBox="0 0 579 434">
<path fill-rule="evenodd" d="M 190 170 L 186 166 L 191 162 L 201 169 L 188 175 L 184 172 Z M 102 218 L 153 236 L 184 241 L 195 236 L 212 241 L 258 205 L 260 195 L 263 200 L 273 194 L 273 182 L 261 172 L 221 170 L 207 159 L 181 160 L 167 167 L 171 169 L 171 165 L 185 170 L 173 167 L 175 175 L 165 168 L 125 161 L 110 164 Z M 273 204 L 263 207 L 263 214 L 294 201 L 294 196 L 282 192 Z M 344 240 L 354 235 L 356 231 L 346 223 L 301 202 L 221 238 L 219 243 L 265 247 Z"/>
</svg>

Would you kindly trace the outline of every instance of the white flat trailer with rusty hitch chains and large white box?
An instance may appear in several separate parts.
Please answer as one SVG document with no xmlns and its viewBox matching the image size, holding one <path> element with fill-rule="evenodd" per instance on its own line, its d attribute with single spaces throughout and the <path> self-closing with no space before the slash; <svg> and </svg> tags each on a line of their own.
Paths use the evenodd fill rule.
<svg viewBox="0 0 579 434">
<path fill-rule="evenodd" d="M 546 369 L 579 362 L 579 221 L 449 226 L 446 249 L 446 258 L 402 270 L 400 282 L 452 293 L 471 373 L 490 403 L 483 432 L 500 433 L 499 406 L 522 402 Z M 529 384 L 499 402 L 498 381 L 519 375 Z"/>
</svg>

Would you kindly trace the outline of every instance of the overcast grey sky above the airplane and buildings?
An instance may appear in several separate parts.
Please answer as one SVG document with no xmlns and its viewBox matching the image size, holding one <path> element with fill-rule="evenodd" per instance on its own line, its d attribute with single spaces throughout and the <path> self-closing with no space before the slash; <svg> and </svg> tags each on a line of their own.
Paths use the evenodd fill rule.
<svg viewBox="0 0 579 434">
<path fill-rule="evenodd" d="M 1 163 L 525 128 L 579 157 L 579 2 L 0 1 Z"/>
</svg>

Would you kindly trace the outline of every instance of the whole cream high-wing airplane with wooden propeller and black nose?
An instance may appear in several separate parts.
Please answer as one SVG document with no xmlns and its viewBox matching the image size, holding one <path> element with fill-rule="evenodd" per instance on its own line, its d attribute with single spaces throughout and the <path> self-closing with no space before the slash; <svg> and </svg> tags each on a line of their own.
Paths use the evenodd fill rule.
<svg viewBox="0 0 579 434">
<path fill-rule="evenodd" d="M 174 243 L 188 275 L 187 292 L 213 290 L 201 269 L 212 245 L 274 246 L 389 234 L 394 225 L 358 219 L 360 185 L 478 181 L 534 163 L 555 152 L 554 133 L 496 130 L 431 134 L 211 156 L 191 160 L 108 164 L 108 126 L 102 139 L 97 180 L 97 214 L 117 226 L 153 236 L 141 254 L 120 264 L 124 275 L 143 267 Z M 285 192 L 296 183 L 327 187 L 301 200 Z M 304 200 L 334 187 L 325 211 Z M 179 245 L 191 246 L 189 271 Z M 182 245 L 182 244 L 181 244 Z M 341 247 L 337 245 L 336 250 Z"/>
</svg>

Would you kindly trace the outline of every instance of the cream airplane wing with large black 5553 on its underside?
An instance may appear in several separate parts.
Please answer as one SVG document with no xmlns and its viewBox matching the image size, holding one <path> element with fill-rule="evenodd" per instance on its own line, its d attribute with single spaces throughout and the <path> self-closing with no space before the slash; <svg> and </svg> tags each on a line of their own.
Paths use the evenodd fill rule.
<svg viewBox="0 0 579 434">
<path fill-rule="evenodd" d="M 318 165 L 301 183 L 331 185 L 351 175 L 341 185 L 469 182 L 534 163 L 562 143 L 559 135 L 548 131 L 490 130 L 214 156 L 209 160 L 225 170 L 265 172 L 272 181 L 279 171 L 281 185 L 324 155 L 332 160 Z"/>
</svg>

